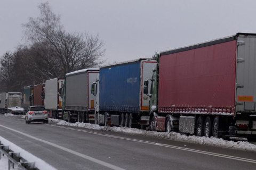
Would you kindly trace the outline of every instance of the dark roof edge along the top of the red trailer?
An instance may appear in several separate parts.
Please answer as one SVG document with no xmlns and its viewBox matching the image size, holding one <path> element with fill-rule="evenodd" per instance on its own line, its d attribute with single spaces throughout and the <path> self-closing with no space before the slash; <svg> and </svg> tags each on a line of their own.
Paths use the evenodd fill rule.
<svg viewBox="0 0 256 170">
<path fill-rule="evenodd" d="M 173 53 L 184 52 L 184 51 L 187 51 L 187 50 L 201 48 L 201 47 L 206 47 L 206 46 L 211 46 L 211 45 L 214 45 L 214 44 L 226 43 L 228 41 L 237 40 L 237 37 L 239 35 L 244 35 L 244 36 L 252 35 L 252 36 L 256 36 L 256 33 L 242 33 L 242 32 L 238 32 L 238 33 L 236 33 L 234 35 L 227 36 L 227 37 L 217 38 L 217 39 L 213 39 L 213 40 L 210 40 L 210 41 L 204 41 L 202 43 L 197 43 L 197 44 L 193 44 L 193 45 L 189 45 L 189 46 L 184 46 L 184 47 L 180 47 L 180 48 L 173 48 L 173 49 L 165 50 L 163 52 L 160 52 L 160 56 L 168 55 L 168 54 L 173 54 Z"/>
</svg>

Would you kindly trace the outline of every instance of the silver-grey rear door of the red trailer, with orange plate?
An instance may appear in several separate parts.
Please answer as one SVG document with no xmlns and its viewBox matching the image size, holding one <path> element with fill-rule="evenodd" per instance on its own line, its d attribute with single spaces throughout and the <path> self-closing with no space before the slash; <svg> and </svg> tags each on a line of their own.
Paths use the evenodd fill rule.
<svg viewBox="0 0 256 170">
<path fill-rule="evenodd" d="M 237 39 L 236 112 L 255 112 L 256 36 Z"/>
</svg>

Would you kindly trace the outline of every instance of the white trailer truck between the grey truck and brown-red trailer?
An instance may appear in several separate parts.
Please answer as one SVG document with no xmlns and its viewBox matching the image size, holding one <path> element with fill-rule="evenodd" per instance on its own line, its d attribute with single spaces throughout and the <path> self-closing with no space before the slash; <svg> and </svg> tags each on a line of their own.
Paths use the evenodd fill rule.
<svg viewBox="0 0 256 170">
<path fill-rule="evenodd" d="M 44 106 L 52 118 L 62 117 L 62 98 L 59 94 L 59 89 L 63 87 L 64 79 L 55 78 L 45 81 L 44 87 Z"/>
</svg>

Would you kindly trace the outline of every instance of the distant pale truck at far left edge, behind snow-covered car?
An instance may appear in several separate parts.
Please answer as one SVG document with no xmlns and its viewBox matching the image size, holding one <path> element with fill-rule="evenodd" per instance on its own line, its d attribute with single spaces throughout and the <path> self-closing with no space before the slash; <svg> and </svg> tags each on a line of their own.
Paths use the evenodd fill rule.
<svg viewBox="0 0 256 170">
<path fill-rule="evenodd" d="M 1 113 L 9 112 L 11 107 L 22 107 L 21 92 L 3 92 L 0 94 Z"/>
</svg>

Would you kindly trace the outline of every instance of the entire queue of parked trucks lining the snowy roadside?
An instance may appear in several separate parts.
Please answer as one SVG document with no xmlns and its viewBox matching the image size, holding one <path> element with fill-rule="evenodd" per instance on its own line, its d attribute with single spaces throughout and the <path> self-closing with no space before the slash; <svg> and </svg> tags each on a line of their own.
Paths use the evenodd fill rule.
<svg viewBox="0 0 256 170">
<path fill-rule="evenodd" d="M 68 122 L 255 139 L 255 68 L 256 34 L 237 33 L 24 87 L 23 106 Z"/>
</svg>

